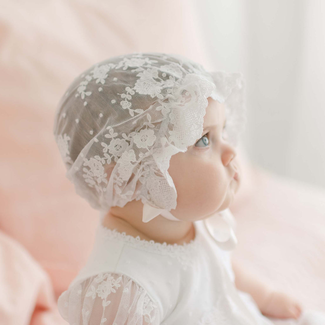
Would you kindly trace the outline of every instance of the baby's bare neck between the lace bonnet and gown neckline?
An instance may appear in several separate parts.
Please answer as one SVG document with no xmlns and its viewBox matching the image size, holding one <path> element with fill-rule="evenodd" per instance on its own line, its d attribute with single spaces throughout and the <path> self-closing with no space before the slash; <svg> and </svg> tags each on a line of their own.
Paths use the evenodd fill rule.
<svg viewBox="0 0 325 325">
<path fill-rule="evenodd" d="M 131 201 L 123 208 L 112 207 L 103 217 L 102 225 L 125 232 L 126 235 L 139 236 L 141 240 L 159 243 L 182 245 L 194 240 L 196 234 L 191 221 L 171 221 L 158 215 L 145 223 L 142 221 L 141 206 L 143 204 L 140 201 Z"/>
</svg>

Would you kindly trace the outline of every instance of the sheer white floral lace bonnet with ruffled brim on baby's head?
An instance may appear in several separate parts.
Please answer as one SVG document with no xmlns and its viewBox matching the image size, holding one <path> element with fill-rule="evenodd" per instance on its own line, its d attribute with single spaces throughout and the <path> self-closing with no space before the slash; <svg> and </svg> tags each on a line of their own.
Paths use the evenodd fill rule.
<svg viewBox="0 0 325 325">
<path fill-rule="evenodd" d="M 76 193 L 102 213 L 141 200 L 143 222 L 178 220 L 169 160 L 201 137 L 211 97 L 225 103 L 228 141 L 246 121 L 241 73 L 206 72 L 187 58 L 131 53 L 99 62 L 60 99 L 54 136 Z"/>
</svg>

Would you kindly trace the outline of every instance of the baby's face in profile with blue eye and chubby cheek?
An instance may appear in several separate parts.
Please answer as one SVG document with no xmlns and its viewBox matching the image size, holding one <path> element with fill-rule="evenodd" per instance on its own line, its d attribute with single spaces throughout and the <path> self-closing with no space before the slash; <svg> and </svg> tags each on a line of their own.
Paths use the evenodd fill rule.
<svg viewBox="0 0 325 325">
<path fill-rule="evenodd" d="M 237 192 L 236 151 L 227 142 L 224 124 L 224 104 L 209 97 L 202 137 L 170 159 L 168 173 L 177 191 L 176 209 L 170 212 L 180 220 L 204 219 L 222 211 Z"/>
</svg>

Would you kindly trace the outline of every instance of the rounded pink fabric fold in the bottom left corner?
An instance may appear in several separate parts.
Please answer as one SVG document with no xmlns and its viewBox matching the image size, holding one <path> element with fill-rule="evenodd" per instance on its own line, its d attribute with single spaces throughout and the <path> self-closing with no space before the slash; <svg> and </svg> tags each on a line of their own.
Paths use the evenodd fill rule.
<svg viewBox="0 0 325 325">
<path fill-rule="evenodd" d="M 48 274 L 16 240 L 0 231 L 0 324 L 67 324 Z"/>
</svg>

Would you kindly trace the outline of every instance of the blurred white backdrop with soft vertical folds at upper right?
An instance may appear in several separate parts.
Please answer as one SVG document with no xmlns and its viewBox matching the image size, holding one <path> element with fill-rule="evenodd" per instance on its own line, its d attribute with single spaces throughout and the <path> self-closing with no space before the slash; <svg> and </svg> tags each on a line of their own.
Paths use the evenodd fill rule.
<svg viewBox="0 0 325 325">
<path fill-rule="evenodd" d="M 209 68 L 245 76 L 252 162 L 324 188 L 325 1 L 192 1 Z"/>
</svg>

